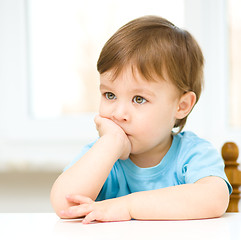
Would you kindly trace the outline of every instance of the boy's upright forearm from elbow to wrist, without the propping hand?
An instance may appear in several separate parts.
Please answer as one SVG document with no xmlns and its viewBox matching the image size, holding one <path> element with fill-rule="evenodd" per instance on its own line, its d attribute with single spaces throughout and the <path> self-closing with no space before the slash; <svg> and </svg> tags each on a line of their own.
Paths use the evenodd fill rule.
<svg viewBox="0 0 241 240">
<path fill-rule="evenodd" d="M 120 155 L 118 141 L 109 136 L 101 137 L 78 162 L 58 177 L 51 190 L 51 202 L 58 215 L 59 211 L 70 206 L 65 198 L 68 194 L 91 199 L 97 197 Z"/>
</svg>

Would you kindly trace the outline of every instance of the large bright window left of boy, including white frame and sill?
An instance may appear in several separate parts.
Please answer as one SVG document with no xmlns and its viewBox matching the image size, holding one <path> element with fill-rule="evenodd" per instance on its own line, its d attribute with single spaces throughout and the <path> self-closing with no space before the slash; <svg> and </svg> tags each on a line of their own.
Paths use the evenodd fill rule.
<svg viewBox="0 0 241 240">
<path fill-rule="evenodd" d="M 103 44 L 142 15 L 182 27 L 184 3 L 1 0 L 0 171 L 61 170 L 96 139 Z"/>
</svg>

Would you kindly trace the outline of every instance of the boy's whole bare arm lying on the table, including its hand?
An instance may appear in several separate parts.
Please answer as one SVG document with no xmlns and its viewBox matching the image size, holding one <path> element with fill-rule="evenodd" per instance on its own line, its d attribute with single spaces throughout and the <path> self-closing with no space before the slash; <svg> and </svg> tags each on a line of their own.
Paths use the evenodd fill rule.
<svg viewBox="0 0 241 240">
<path fill-rule="evenodd" d="M 194 184 L 178 185 L 158 190 L 93 202 L 82 196 L 70 196 L 79 206 L 65 212 L 68 217 L 86 215 L 84 223 L 93 220 L 123 221 L 180 220 L 220 217 L 227 209 L 229 192 L 219 177 L 206 177 Z"/>
</svg>

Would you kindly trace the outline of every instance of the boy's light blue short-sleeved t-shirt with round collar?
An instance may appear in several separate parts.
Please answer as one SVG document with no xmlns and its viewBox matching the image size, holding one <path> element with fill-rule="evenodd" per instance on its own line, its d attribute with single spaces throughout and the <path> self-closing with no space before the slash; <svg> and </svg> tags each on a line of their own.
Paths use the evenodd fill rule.
<svg viewBox="0 0 241 240">
<path fill-rule="evenodd" d="M 85 146 L 78 158 L 66 169 L 77 162 L 94 143 Z M 218 151 L 208 141 L 197 137 L 194 133 L 182 132 L 173 136 L 169 151 L 154 167 L 140 168 L 130 159 L 117 160 L 96 200 L 195 183 L 208 176 L 224 179 L 231 194 L 232 187 L 224 172 L 224 161 Z"/>
</svg>

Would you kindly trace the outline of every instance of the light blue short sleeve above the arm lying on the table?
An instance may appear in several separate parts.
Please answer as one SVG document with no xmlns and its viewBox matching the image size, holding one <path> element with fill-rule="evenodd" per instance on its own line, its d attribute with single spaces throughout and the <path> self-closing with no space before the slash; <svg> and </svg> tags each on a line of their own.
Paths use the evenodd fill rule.
<svg viewBox="0 0 241 240">
<path fill-rule="evenodd" d="M 182 183 L 195 183 L 201 178 L 216 176 L 225 180 L 232 192 L 224 171 L 224 161 L 218 151 L 207 141 L 199 139 L 188 142 L 178 157 L 179 177 Z"/>
</svg>

